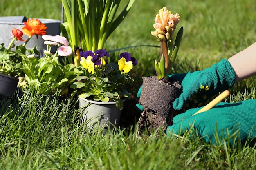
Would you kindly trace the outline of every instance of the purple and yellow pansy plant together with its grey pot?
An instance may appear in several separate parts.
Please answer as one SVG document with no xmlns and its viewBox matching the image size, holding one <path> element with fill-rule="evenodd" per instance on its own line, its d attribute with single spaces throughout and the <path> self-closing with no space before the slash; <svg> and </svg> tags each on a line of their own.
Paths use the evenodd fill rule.
<svg viewBox="0 0 256 170">
<path fill-rule="evenodd" d="M 80 107 L 87 106 L 82 110 L 82 122 L 90 125 L 99 121 L 101 126 L 106 125 L 106 132 L 108 126 L 118 126 L 123 102 L 131 98 L 126 88 L 133 82 L 129 71 L 137 60 L 125 52 L 120 54 L 118 63 L 109 62 L 110 54 L 106 49 L 93 52 L 76 48 L 75 53 L 83 74 L 70 88 L 78 91 Z"/>
</svg>

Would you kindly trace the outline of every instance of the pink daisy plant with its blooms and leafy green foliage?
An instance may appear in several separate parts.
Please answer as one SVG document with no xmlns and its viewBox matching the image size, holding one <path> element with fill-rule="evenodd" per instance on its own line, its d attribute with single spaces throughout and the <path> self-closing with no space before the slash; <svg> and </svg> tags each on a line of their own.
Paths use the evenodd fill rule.
<svg viewBox="0 0 256 170">
<path fill-rule="evenodd" d="M 60 96 L 69 94 L 69 86 L 81 73 L 74 64 L 63 66 L 59 56 L 67 57 L 72 54 L 67 38 L 60 35 L 43 35 L 45 57 L 21 55 L 23 60 L 16 64 L 16 68 L 23 72 L 24 77 L 20 81 L 20 88 L 23 91 L 40 95 L 54 95 L 58 92 Z M 52 47 L 57 46 L 55 53 Z"/>
</svg>

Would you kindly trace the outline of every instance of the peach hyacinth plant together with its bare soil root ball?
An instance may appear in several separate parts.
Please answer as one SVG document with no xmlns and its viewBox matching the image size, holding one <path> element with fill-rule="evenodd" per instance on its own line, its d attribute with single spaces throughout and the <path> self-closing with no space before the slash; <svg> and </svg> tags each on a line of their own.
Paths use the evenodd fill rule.
<svg viewBox="0 0 256 170">
<path fill-rule="evenodd" d="M 183 27 L 177 33 L 173 45 L 173 34 L 180 21 L 179 14 L 172 14 L 166 7 L 159 10 L 155 17 L 151 34 L 157 37 L 161 44 L 160 61 L 155 60 L 156 76 L 143 77 L 143 84 L 139 103 L 144 107 L 138 121 L 138 132 L 144 129 L 157 130 L 171 125 L 174 109 L 172 104 L 180 95 L 182 86 L 169 77 L 171 68 L 180 47 Z"/>
</svg>

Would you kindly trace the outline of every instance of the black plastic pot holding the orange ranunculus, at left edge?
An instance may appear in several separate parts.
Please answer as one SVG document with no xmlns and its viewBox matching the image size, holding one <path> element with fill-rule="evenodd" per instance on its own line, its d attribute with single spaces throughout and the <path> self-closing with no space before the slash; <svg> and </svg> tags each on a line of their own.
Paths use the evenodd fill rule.
<svg viewBox="0 0 256 170">
<path fill-rule="evenodd" d="M 0 94 L 11 97 L 16 91 L 19 79 L 0 73 Z"/>
</svg>

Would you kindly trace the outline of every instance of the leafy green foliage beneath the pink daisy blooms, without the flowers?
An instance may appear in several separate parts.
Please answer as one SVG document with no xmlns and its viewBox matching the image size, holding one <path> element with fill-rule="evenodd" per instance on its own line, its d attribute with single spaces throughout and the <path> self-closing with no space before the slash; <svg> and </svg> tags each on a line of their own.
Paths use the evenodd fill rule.
<svg viewBox="0 0 256 170">
<path fill-rule="evenodd" d="M 67 90 L 81 73 L 74 64 L 62 66 L 58 57 L 28 58 L 16 64 L 16 68 L 24 73 L 24 78 L 20 82 L 20 87 L 25 91 L 36 92 L 38 94 L 53 95 L 57 90 L 61 90 L 63 95 L 67 95 Z"/>
</svg>

